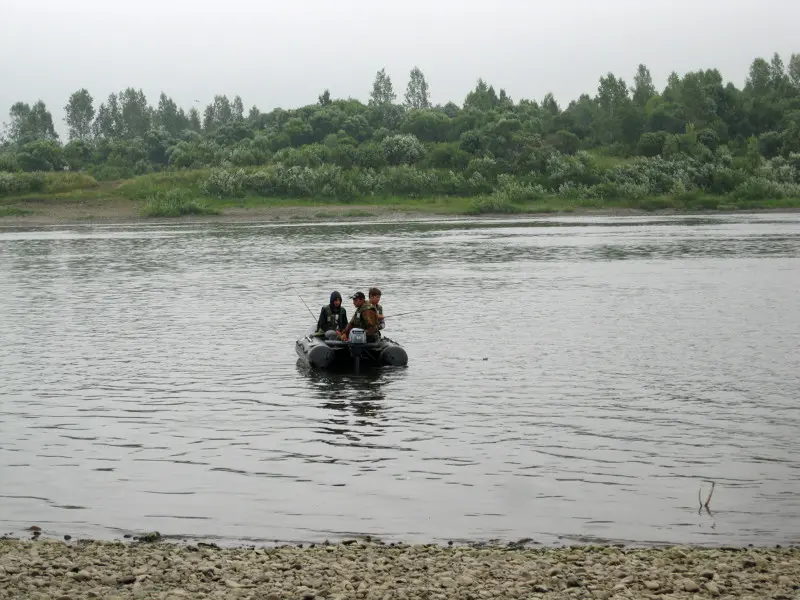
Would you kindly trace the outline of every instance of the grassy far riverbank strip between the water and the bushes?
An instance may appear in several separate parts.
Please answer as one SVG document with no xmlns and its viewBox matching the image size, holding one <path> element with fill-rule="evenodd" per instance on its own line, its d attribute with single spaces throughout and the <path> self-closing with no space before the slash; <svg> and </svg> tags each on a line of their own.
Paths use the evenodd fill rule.
<svg viewBox="0 0 800 600">
<path fill-rule="evenodd" d="M 800 210 L 800 198 L 741 200 L 698 193 L 681 196 L 536 200 L 488 196 L 216 198 L 204 195 L 205 171 L 142 175 L 98 182 L 80 173 L 47 173 L 34 193 L 0 197 L 0 225 L 70 225 L 169 221 L 314 221 L 435 216 L 673 215 Z"/>
</svg>

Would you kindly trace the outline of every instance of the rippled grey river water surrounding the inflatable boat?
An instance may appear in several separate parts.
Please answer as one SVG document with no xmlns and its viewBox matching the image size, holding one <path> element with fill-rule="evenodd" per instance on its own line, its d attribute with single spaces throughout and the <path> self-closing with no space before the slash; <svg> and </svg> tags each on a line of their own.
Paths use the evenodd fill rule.
<svg viewBox="0 0 800 600">
<path fill-rule="evenodd" d="M 299 365 L 372 285 L 408 367 Z M 0 230 L 0 528 L 800 541 L 798 295 L 795 214 Z"/>
</svg>

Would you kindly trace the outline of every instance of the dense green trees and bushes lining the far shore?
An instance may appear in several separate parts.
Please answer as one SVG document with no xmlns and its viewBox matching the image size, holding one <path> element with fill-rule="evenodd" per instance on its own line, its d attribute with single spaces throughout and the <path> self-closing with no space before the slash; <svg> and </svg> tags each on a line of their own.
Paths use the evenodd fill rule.
<svg viewBox="0 0 800 600">
<path fill-rule="evenodd" d="M 220 94 L 201 113 L 177 106 L 165 93 L 153 106 L 129 87 L 99 105 L 88 90 L 77 90 L 64 109 L 66 142 L 43 102 L 15 103 L 0 145 L 0 171 L 67 168 L 120 179 L 170 169 L 402 167 L 464 181 L 478 172 L 491 186 L 501 175 L 534 176 L 546 184 L 559 179 L 564 165 L 580 171 L 575 165 L 585 157 L 568 158 L 590 152 L 690 160 L 752 175 L 764 160 L 780 158 L 795 168 L 800 54 L 787 64 L 778 54 L 756 58 L 741 89 L 707 69 L 673 72 L 658 90 L 639 65 L 630 83 L 607 73 L 594 93 L 566 106 L 550 93 L 540 101 L 515 101 L 483 79 L 460 104 L 433 105 L 428 82 L 414 67 L 399 100 L 391 77 L 379 70 L 366 104 L 324 90 L 313 104 L 263 113 L 257 106 L 246 111 L 240 96 Z M 795 176 L 783 181 L 792 182 L 800 183 Z M 563 183 L 580 184 L 580 177 Z"/>
</svg>

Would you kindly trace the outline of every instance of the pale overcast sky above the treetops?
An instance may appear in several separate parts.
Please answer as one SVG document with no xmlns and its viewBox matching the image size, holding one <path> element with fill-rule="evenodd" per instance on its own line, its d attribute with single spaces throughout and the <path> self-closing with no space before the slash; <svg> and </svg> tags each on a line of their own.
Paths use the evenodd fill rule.
<svg viewBox="0 0 800 600">
<path fill-rule="evenodd" d="M 262 112 L 325 88 L 366 101 L 381 68 L 401 100 L 414 66 L 442 104 L 482 77 L 565 107 L 639 63 L 658 89 L 708 68 L 741 87 L 754 58 L 800 53 L 798 23 L 797 0 L 0 0 L 0 122 L 41 99 L 63 136 L 82 87 L 95 108 L 128 86 L 201 112 L 215 94 Z"/>
</svg>

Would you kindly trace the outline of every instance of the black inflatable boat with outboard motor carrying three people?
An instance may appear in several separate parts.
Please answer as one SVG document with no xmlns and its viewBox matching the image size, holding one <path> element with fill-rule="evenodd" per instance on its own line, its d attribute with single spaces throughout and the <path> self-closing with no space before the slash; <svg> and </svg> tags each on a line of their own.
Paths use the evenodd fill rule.
<svg viewBox="0 0 800 600">
<path fill-rule="evenodd" d="M 352 329 L 346 342 L 308 334 L 297 340 L 295 350 L 306 365 L 320 369 L 354 368 L 358 371 L 362 366 L 408 364 L 408 354 L 400 344 L 387 337 L 381 337 L 377 342 L 367 342 L 363 329 Z"/>
</svg>

